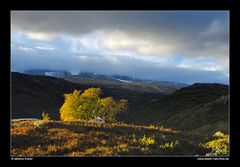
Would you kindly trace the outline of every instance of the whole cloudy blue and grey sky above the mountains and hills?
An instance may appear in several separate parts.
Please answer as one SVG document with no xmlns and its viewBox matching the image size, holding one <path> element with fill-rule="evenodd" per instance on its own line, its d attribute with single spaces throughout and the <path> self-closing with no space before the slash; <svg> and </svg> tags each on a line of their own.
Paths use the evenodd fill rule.
<svg viewBox="0 0 240 167">
<path fill-rule="evenodd" d="M 228 11 L 11 11 L 11 70 L 229 83 Z"/>
</svg>

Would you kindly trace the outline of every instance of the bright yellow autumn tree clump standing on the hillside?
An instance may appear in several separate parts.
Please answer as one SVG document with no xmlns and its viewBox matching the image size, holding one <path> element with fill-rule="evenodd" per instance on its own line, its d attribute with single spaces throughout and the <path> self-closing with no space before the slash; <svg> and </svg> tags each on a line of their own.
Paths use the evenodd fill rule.
<svg viewBox="0 0 240 167">
<path fill-rule="evenodd" d="M 60 108 L 63 121 L 91 120 L 101 117 L 105 121 L 115 122 L 116 114 L 126 112 L 128 101 L 114 100 L 112 97 L 101 98 L 100 88 L 89 88 L 83 93 L 74 90 L 73 93 L 64 94 L 64 104 Z"/>
</svg>

